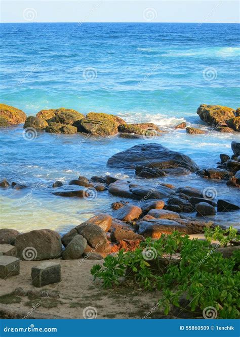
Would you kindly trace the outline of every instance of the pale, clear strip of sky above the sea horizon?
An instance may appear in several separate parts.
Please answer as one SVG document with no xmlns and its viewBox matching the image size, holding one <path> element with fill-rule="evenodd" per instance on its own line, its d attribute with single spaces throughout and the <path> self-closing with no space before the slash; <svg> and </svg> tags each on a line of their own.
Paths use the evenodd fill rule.
<svg viewBox="0 0 240 337">
<path fill-rule="evenodd" d="M 231 0 L 2 0 L 1 22 L 239 23 Z"/>
</svg>

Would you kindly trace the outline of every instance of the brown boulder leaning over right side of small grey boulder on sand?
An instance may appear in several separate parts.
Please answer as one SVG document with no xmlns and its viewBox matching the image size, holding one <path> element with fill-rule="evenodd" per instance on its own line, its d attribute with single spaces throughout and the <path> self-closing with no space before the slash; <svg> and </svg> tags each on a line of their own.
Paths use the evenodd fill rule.
<svg viewBox="0 0 240 337">
<path fill-rule="evenodd" d="M 76 227 L 78 234 L 83 235 L 88 245 L 95 249 L 95 252 L 105 251 L 109 244 L 104 230 L 91 223 L 83 223 Z"/>
</svg>

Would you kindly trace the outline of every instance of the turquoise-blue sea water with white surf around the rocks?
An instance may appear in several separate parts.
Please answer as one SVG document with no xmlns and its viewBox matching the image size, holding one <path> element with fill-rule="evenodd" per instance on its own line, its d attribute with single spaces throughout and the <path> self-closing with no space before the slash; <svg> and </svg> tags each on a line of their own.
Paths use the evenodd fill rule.
<svg viewBox="0 0 240 337">
<path fill-rule="evenodd" d="M 239 135 L 212 131 L 187 135 L 171 127 L 186 121 L 208 129 L 196 109 L 202 104 L 239 106 L 239 25 L 236 24 L 1 24 L 1 101 L 35 115 L 65 107 L 95 111 L 128 122 L 153 122 L 169 131 L 154 141 L 189 155 L 202 167 L 216 167 L 231 155 Z M 93 201 L 51 195 L 51 184 L 86 175 L 133 172 L 109 170 L 118 151 L 152 140 L 85 138 L 38 132 L 26 140 L 22 126 L 0 130 L 1 177 L 29 186 L 1 190 L 2 226 L 19 230 L 65 231 L 94 212 L 111 211 L 117 198 L 107 192 Z M 165 178 L 176 186 L 211 187 L 218 198 L 239 198 L 225 182 L 195 175 Z M 37 186 L 34 188 L 34 186 Z M 29 195 L 29 192 L 31 194 Z M 215 217 L 240 227 L 239 212 Z"/>
</svg>

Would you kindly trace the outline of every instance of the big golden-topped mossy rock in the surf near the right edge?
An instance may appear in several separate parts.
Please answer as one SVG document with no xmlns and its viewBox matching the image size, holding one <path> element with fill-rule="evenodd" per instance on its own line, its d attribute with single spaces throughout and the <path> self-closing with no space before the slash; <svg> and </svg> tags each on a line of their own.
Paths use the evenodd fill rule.
<svg viewBox="0 0 240 337">
<path fill-rule="evenodd" d="M 221 125 L 230 118 L 234 118 L 234 109 L 222 107 L 220 105 L 202 104 L 197 109 L 196 113 L 199 117 L 209 125 Z"/>
</svg>

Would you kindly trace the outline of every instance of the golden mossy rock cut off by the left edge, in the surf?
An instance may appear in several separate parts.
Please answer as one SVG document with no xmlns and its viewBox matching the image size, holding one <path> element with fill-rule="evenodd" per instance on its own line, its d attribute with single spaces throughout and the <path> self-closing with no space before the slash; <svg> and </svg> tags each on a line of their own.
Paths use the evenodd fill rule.
<svg viewBox="0 0 240 337">
<path fill-rule="evenodd" d="M 3 126 L 6 126 L 6 120 L 8 125 L 15 125 L 23 123 L 27 118 L 26 114 L 22 110 L 6 104 L 0 104 L 0 117 L 2 117 Z"/>
</svg>

